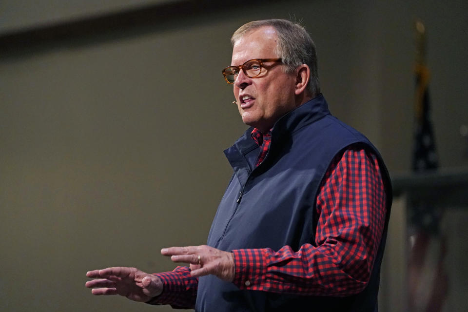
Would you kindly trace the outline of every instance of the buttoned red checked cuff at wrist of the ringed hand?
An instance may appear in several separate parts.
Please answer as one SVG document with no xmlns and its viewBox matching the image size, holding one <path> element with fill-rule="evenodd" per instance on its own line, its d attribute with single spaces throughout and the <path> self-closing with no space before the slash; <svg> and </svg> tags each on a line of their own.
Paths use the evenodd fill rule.
<svg viewBox="0 0 468 312">
<path fill-rule="evenodd" d="M 234 280 L 239 289 L 261 290 L 267 273 L 267 249 L 237 249 L 234 254 Z"/>
</svg>

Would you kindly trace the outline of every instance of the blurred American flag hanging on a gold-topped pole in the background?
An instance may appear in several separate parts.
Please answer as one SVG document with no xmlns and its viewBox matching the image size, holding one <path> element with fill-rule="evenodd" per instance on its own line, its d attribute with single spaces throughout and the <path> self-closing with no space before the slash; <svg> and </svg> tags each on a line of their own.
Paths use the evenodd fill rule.
<svg viewBox="0 0 468 312">
<path fill-rule="evenodd" d="M 424 25 L 417 27 L 423 31 L 420 43 L 424 44 Z M 423 52 L 420 51 L 420 56 Z M 416 127 L 412 169 L 414 172 L 428 172 L 436 170 L 439 162 L 429 114 L 429 70 L 422 57 L 415 67 L 415 76 Z M 448 275 L 444 271 L 446 242 L 440 229 L 442 212 L 441 207 L 424 198 L 414 199 L 409 209 L 408 283 L 411 312 L 443 311 Z"/>
</svg>

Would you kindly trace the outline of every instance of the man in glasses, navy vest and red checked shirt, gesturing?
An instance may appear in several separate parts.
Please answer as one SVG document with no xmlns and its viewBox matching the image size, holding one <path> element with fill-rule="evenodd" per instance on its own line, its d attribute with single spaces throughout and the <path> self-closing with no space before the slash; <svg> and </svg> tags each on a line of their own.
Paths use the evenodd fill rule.
<svg viewBox="0 0 468 312">
<path fill-rule="evenodd" d="M 161 250 L 190 267 L 95 270 L 86 286 L 197 311 L 377 311 L 391 205 L 380 155 L 330 115 L 303 27 L 254 21 L 232 43 L 223 75 L 251 128 L 225 151 L 234 175 L 207 246 Z"/>
</svg>

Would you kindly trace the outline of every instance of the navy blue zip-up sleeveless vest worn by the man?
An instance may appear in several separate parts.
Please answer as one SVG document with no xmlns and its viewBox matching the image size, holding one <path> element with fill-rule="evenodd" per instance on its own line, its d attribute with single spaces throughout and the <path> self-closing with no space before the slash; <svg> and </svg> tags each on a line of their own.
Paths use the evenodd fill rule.
<svg viewBox="0 0 468 312">
<path fill-rule="evenodd" d="M 380 263 L 387 235 L 391 185 L 380 154 L 362 134 L 330 115 L 322 95 L 280 118 L 270 151 L 255 168 L 259 147 L 248 129 L 225 151 L 234 175 L 211 226 L 207 245 L 224 250 L 314 245 L 313 212 L 331 161 L 351 144 L 379 158 L 387 193 L 387 219 L 370 281 L 348 297 L 283 295 L 239 290 L 213 275 L 199 278 L 196 311 L 377 311 Z M 239 197 L 240 200 L 239 200 Z"/>
</svg>

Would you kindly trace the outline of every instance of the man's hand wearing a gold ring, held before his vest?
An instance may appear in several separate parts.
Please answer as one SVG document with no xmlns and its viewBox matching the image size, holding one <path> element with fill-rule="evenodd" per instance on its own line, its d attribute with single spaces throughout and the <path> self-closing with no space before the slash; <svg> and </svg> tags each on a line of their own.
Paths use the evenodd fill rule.
<svg viewBox="0 0 468 312">
<path fill-rule="evenodd" d="M 161 254 L 171 256 L 174 262 L 190 263 L 190 274 L 194 277 L 213 274 L 228 282 L 234 280 L 233 253 L 202 245 L 164 248 Z"/>
</svg>

